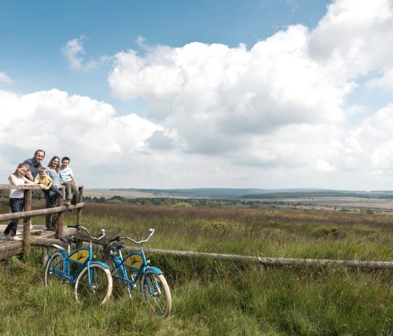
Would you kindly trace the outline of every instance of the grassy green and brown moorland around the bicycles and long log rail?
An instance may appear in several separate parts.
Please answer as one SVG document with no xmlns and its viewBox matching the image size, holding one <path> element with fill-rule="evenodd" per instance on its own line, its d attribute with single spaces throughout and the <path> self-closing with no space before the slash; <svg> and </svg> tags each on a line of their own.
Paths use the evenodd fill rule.
<svg viewBox="0 0 393 336">
<path fill-rule="evenodd" d="M 188 203 L 182 200 L 183 203 Z M 340 260 L 393 260 L 392 215 L 237 206 L 88 203 L 84 224 L 149 248 Z M 65 224 L 74 223 L 65 213 Z M 34 219 L 39 222 L 39 219 Z M 148 248 L 146 250 L 148 252 Z M 99 255 L 99 253 L 97 253 Z M 391 335 L 390 269 L 265 266 L 150 254 L 173 297 L 166 319 L 139 295 L 104 307 L 77 304 L 69 288 L 44 287 L 39 250 L 1 265 L 1 335 Z M 18 323 L 15 325 L 15 311 Z"/>
</svg>

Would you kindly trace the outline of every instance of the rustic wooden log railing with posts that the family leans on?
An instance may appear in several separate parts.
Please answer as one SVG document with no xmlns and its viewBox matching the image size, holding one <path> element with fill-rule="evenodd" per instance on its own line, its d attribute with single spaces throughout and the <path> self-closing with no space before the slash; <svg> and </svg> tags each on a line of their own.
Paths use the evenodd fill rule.
<svg viewBox="0 0 393 336">
<path fill-rule="evenodd" d="M 82 222 L 82 208 L 86 206 L 83 202 L 84 197 L 84 186 L 79 186 L 79 199 L 74 206 L 65 206 L 64 197 L 58 198 L 58 206 L 55 208 L 45 208 L 39 210 L 32 210 L 32 190 L 41 190 L 39 185 L 25 184 L 20 186 L 11 186 L 9 184 L 0 184 L 0 189 L 22 189 L 25 190 L 25 208 L 21 213 L 6 213 L 0 214 L 0 222 L 8 220 L 23 219 L 23 250 L 29 252 L 31 249 L 31 230 L 30 230 L 30 218 L 42 215 L 48 215 L 52 213 L 58 213 L 58 229 L 56 231 L 57 238 L 62 236 L 63 229 L 63 213 L 67 210 L 76 209 L 76 224 Z M 64 196 L 64 187 L 60 187 Z"/>
</svg>

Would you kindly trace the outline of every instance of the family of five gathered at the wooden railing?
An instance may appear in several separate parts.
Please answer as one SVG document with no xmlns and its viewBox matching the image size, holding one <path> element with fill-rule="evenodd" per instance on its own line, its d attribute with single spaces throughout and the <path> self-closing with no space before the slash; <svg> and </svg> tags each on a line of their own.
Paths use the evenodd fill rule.
<svg viewBox="0 0 393 336">
<path fill-rule="evenodd" d="M 45 152 L 37 149 L 32 159 L 26 159 L 20 163 L 15 172 L 8 180 L 11 186 L 23 184 L 37 184 L 46 195 L 46 208 L 58 206 L 58 198 L 62 197 L 59 187 L 65 187 L 65 206 L 76 204 L 79 198 L 79 188 L 76 184 L 74 173 L 69 167 L 69 158 L 64 156 L 53 156 L 44 168 L 41 162 L 44 160 Z M 20 213 L 25 206 L 25 191 L 22 189 L 10 190 L 10 208 L 12 213 Z M 58 213 L 46 215 L 46 229 L 55 231 L 58 227 Z M 30 229 L 33 229 L 31 226 Z M 3 236 L 13 241 L 20 241 L 18 235 L 18 220 L 11 220 L 3 232 Z"/>
</svg>

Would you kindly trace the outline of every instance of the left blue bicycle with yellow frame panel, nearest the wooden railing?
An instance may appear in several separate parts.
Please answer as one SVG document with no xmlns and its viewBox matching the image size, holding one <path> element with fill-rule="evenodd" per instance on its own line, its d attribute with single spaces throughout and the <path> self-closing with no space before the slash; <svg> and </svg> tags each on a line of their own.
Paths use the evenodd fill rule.
<svg viewBox="0 0 393 336">
<path fill-rule="evenodd" d="M 45 267 L 45 284 L 69 283 L 74 285 L 76 300 L 92 300 L 104 304 L 112 293 L 112 276 L 107 264 L 95 261 L 93 256 L 93 241 L 100 241 L 105 236 L 102 229 L 98 237 L 81 225 L 68 225 L 76 230 L 84 229 L 90 236 L 90 246 L 71 251 L 71 243 L 75 238 L 62 236 L 60 240 L 68 244 L 65 250 L 62 246 L 53 244 L 51 254 Z"/>
</svg>

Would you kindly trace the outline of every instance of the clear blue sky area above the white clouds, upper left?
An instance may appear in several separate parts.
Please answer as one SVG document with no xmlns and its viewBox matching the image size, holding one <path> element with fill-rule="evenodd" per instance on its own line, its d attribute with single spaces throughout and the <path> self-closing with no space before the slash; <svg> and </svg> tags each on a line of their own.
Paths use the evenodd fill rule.
<svg viewBox="0 0 393 336">
<path fill-rule="evenodd" d="M 145 109 L 143 102 L 119 102 L 108 90 L 109 66 L 87 72 L 69 69 L 60 48 L 83 37 L 84 57 L 149 46 L 181 47 L 192 41 L 251 48 L 288 25 L 314 27 L 329 1 L 218 0 L 218 1 L 2 1 L 0 64 L 15 81 L 18 93 L 58 88 L 111 102 L 119 114 Z"/>
</svg>

